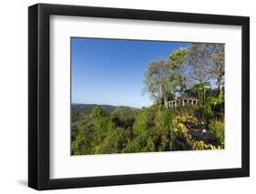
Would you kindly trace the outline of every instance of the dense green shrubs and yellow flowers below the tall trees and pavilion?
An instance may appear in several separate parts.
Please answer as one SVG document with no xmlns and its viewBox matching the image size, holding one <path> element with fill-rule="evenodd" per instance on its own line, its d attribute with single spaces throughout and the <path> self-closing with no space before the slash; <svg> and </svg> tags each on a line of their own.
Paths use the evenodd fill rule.
<svg viewBox="0 0 256 194">
<path fill-rule="evenodd" d="M 80 114 L 73 111 L 72 154 L 224 148 L 224 117 L 215 110 L 217 105 L 205 101 L 199 106 L 160 110 L 154 105 L 116 107 L 111 112 L 101 107 L 86 113 L 79 110 Z M 197 134 L 199 129 L 205 129 L 206 134 Z"/>
</svg>

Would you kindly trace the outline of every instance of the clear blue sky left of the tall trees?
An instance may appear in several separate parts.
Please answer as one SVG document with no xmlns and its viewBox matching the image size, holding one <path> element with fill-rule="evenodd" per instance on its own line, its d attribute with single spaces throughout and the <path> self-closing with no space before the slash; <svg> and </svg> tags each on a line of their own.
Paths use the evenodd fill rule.
<svg viewBox="0 0 256 194">
<path fill-rule="evenodd" d="M 72 103 L 148 107 L 148 63 L 189 43 L 71 38 Z"/>
</svg>

